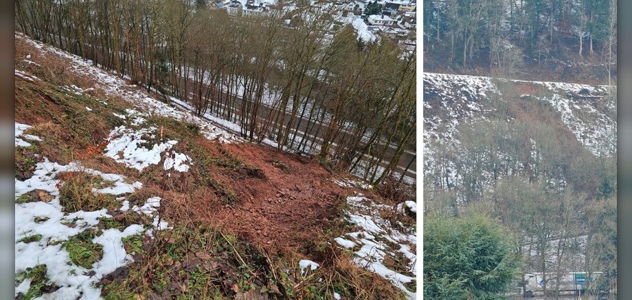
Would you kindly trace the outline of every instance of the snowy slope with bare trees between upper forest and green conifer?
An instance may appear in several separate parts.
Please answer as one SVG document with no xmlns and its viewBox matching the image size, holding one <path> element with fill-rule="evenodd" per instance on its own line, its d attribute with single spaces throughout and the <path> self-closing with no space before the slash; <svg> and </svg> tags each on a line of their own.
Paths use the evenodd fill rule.
<svg viewBox="0 0 632 300">
<path fill-rule="evenodd" d="M 550 291 L 578 270 L 613 286 L 616 86 L 423 76 L 424 213 L 493 216 Z"/>
</svg>

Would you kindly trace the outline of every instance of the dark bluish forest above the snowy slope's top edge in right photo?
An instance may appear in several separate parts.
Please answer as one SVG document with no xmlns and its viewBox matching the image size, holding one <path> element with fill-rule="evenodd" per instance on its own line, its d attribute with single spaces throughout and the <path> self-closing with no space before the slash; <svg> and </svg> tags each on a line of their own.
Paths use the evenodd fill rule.
<svg viewBox="0 0 632 300">
<path fill-rule="evenodd" d="M 616 0 L 424 0 L 424 68 L 614 84 Z"/>
</svg>

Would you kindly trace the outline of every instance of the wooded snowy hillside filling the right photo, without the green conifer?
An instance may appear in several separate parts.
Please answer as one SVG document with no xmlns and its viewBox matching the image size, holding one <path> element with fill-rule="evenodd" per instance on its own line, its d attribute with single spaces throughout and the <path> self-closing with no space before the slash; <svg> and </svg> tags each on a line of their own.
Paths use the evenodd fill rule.
<svg viewBox="0 0 632 300">
<path fill-rule="evenodd" d="M 616 1 L 423 9 L 424 295 L 616 299 Z M 485 247 L 455 242 L 464 223 Z"/>
</svg>

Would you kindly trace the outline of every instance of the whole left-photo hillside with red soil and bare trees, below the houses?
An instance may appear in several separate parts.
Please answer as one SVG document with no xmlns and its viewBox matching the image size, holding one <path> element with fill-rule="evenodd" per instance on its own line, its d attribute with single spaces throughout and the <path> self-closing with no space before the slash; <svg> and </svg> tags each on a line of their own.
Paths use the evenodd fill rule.
<svg viewBox="0 0 632 300">
<path fill-rule="evenodd" d="M 416 51 L 229 2 L 15 3 L 16 299 L 416 297 Z"/>
</svg>

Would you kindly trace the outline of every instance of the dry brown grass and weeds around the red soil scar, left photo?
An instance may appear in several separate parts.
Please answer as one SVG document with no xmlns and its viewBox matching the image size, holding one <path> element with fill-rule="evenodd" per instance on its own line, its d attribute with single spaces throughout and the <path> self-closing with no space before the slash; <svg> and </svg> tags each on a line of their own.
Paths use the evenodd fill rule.
<svg viewBox="0 0 632 300">
<path fill-rule="evenodd" d="M 126 200 L 130 205 L 143 205 L 150 197 L 161 197 L 159 214 L 174 226 L 172 230 L 155 232 L 153 240 L 139 236 L 124 240 L 128 253 L 135 252 L 136 262 L 120 268 L 101 282 L 106 299 L 135 299 L 141 297 L 139 295 L 142 295 L 141 299 L 166 299 L 173 296 L 165 294 L 173 291 L 171 283 L 179 284 L 180 288 L 175 290 L 187 299 L 236 297 L 238 293 L 253 296 L 252 290 L 248 290 L 251 287 L 260 293 L 265 293 L 262 292 L 264 287 L 271 290 L 267 295 L 272 299 L 313 299 L 316 295 L 331 299 L 334 291 L 348 299 L 404 298 L 390 282 L 359 268 L 352 263 L 350 253 L 331 245 L 332 236 L 343 232 L 336 221 L 327 223 L 330 232 L 313 229 L 312 240 L 305 242 L 308 247 L 271 251 L 247 242 L 243 237 L 252 236 L 251 232 L 233 232 L 229 227 L 210 225 L 210 220 L 201 218 L 210 215 L 217 205 L 238 204 L 229 204 L 222 198 L 226 195 L 221 192 L 232 190 L 218 182 L 218 168 L 210 163 L 214 155 L 201 155 L 204 147 L 191 138 L 196 136 L 194 129 L 184 123 L 160 118 L 150 120 L 164 123 L 165 136 L 181 140 L 175 150 L 194 159 L 192 169 L 185 175 L 168 177 L 161 164 L 139 172 L 104 157 L 102 141 L 115 126 L 105 116 L 131 105 L 120 96 L 107 97 L 98 88 L 82 97 L 65 95 L 59 86 L 74 84 L 83 89 L 92 88 L 94 79 L 74 75 L 67 69 L 70 62 L 66 58 L 55 55 L 44 58 L 38 55 L 38 49 L 16 42 L 16 57 L 21 55 L 23 58 L 27 53 L 32 54 L 31 60 L 42 65 L 28 68 L 44 82 L 34 84 L 16 78 L 16 94 L 20 96 L 16 101 L 16 120 L 35 124 L 32 134 L 43 138 L 38 144 L 38 150 L 41 150 L 38 152 L 52 162 L 67 164 L 80 159 L 85 168 L 122 174 L 128 182 L 143 182 L 144 187 L 127 195 Z M 100 105 L 95 102 L 96 98 L 106 100 L 109 105 Z M 87 103 L 93 112 L 85 111 Z M 231 155 L 224 156 L 232 158 Z M 246 173 L 240 175 L 260 175 L 257 168 L 244 170 Z M 135 212 L 118 212 L 120 201 L 93 194 L 91 188 L 100 182 L 100 177 L 81 171 L 60 174 L 60 177 L 63 177 L 60 199 L 67 212 L 108 207 L 119 223 L 105 226 L 113 228 L 124 227 L 139 219 L 144 225 L 151 222 Z M 241 221 L 230 217 L 234 218 L 231 221 Z M 277 246 L 270 245 L 269 248 Z M 310 247 L 313 249 L 308 249 Z M 301 276 L 297 263 L 302 258 L 313 258 L 321 267 L 312 275 Z M 322 278 L 321 282 L 319 278 Z"/>
</svg>

